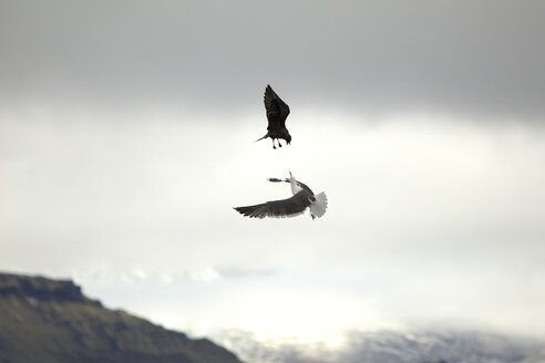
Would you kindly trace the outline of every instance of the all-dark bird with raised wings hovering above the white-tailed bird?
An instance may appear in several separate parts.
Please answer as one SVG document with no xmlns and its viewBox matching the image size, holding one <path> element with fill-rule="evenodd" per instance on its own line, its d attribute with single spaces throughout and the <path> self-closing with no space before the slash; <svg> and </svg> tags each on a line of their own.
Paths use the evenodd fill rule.
<svg viewBox="0 0 545 363">
<path fill-rule="evenodd" d="M 286 144 L 291 143 L 291 135 L 286 128 L 286 118 L 289 115 L 289 106 L 276 94 L 275 91 L 267 84 L 265 89 L 265 111 L 267 112 L 267 120 L 269 125 L 267 126 L 267 134 L 256 139 L 256 142 L 270 137 L 272 139 L 272 148 L 275 146 L 275 138 L 278 142 L 278 146 L 282 147 L 280 144 L 280 138 L 286 141 Z"/>
</svg>

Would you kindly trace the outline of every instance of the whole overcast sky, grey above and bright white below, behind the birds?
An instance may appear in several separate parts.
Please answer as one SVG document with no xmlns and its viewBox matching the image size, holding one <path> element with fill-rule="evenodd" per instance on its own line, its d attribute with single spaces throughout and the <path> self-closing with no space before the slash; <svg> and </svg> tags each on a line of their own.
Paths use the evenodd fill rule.
<svg viewBox="0 0 545 363">
<path fill-rule="evenodd" d="M 0 269 L 194 335 L 545 338 L 542 1 L 0 1 Z M 276 151 L 263 104 L 289 104 Z M 291 195 L 326 215 L 232 209 Z"/>
</svg>

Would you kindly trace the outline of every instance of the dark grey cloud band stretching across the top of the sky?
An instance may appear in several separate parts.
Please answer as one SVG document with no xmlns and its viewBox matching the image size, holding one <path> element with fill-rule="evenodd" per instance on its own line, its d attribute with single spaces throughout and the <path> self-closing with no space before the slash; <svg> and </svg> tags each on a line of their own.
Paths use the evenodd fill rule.
<svg viewBox="0 0 545 363">
<path fill-rule="evenodd" d="M 270 82 L 301 108 L 538 120 L 545 111 L 541 1 L 0 7 L 4 100 L 225 114 L 260 100 Z"/>
</svg>

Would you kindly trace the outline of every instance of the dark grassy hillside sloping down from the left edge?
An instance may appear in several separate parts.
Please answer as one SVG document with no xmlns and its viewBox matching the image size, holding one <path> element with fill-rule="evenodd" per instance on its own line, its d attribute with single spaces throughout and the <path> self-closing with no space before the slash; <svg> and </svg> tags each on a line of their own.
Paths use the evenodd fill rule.
<svg viewBox="0 0 545 363">
<path fill-rule="evenodd" d="M 104 309 L 72 281 L 0 273 L 0 326 L 2 363 L 239 362 L 208 340 Z"/>
</svg>

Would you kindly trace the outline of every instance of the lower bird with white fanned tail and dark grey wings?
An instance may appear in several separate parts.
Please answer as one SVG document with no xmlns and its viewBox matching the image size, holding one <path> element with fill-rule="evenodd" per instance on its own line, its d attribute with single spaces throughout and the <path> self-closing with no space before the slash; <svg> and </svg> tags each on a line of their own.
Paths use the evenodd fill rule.
<svg viewBox="0 0 545 363">
<path fill-rule="evenodd" d="M 296 180 L 295 176 L 289 172 L 289 178 L 277 179 L 269 178 L 269 182 L 286 182 L 291 184 L 291 193 L 294 196 L 288 199 L 267 201 L 260 205 L 248 207 L 235 207 L 239 214 L 250 218 L 285 218 L 302 215 L 305 209 L 310 209 L 310 217 L 321 217 L 326 214 L 328 207 L 328 198 L 322 191 L 315 195 L 310 188 L 301 182 Z"/>
</svg>

